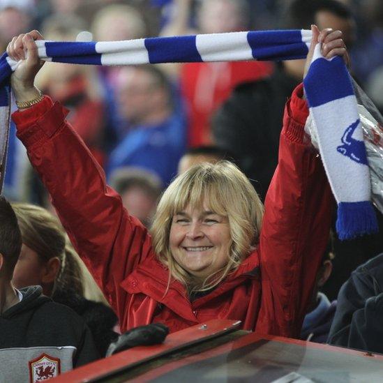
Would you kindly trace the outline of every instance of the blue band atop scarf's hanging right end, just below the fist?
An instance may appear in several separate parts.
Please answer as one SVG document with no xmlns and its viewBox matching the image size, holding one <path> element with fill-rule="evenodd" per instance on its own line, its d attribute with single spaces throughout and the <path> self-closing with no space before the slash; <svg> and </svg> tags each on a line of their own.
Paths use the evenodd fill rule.
<svg viewBox="0 0 383 383">
<path fill-rule="evenodd" d="M 331 61 L 326 59 L 313 61 L 303 84 L 310 107 L 324 105 L 354 94 L 350 75 L 341 57 L 335 57 Z"/>
</svg>

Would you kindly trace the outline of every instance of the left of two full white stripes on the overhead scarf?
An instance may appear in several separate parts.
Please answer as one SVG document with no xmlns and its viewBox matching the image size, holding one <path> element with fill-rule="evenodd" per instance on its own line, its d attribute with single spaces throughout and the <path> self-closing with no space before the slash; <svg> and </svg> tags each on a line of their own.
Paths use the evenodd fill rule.
<svg viewBox="0 0 383 383">
<path fill-rule="evenodd" d="M 102 65 L 126 65 L 149 63 L 149 54 L 145 39 L 127 41 L 100 41 L 96 43 L 96 52 L 101 53 Z"/>
</svg>

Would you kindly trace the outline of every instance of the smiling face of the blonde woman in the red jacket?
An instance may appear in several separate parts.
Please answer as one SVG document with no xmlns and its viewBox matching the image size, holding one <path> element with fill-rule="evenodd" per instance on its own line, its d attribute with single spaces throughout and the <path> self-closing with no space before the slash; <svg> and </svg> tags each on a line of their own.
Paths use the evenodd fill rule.
<svg viewBox="0 0 383 383">
<path fill-rule="evenodd" d="M 172 255 L 183 269 L 197 278 L 204 279 L 227 264 L 231 243 L 227 217 L 206 207 L 187 206 L 172 219 Z"/>
</svg>

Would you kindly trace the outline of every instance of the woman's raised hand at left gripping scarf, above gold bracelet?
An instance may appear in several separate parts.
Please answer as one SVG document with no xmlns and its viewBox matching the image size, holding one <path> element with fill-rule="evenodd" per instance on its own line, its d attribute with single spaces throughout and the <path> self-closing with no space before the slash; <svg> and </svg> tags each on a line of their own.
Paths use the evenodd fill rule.
<svg viewBox="0 0 383 383">
<path fill-rule="evenodd" d="M 17 101 L 32 100 L 40 94 L 33 84 L 44 61 L 38 57 L 35 40 L 43 40 L 43 36 L 36 30 L 14 37 L 7 47 L 10 59 L 20 61 L 10 77 L 10 85 Z"/>
</svg>

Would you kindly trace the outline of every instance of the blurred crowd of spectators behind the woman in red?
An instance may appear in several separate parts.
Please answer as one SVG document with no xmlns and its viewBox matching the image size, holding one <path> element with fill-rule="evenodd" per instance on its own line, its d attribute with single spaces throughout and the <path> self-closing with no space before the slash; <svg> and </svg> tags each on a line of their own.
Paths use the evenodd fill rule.
<svg viewBox="0 0 383 383">
<path fill-rule="evenodd" d="M 352 76 L 383 112 L 383 1 L 323 0 L 317 1 L 321 4 L 317 8 L 310 8 L 310 3 L 310 0 L 0 0 L 0 50 L 6 50 L 13 36 L 31 29 L 38 29 L 46 40 L 109 41 L 310 29 L 310 24 L 315 23 L 320 29 L 343 31 Z M 123 206 L 150 227 L 163 190 L 177 174 L 203 161 L 232 161 L 264 200 L 278 163 L 283 107 L 301 81 L 303 65 L 303 60 L 125 67 L 46 63 L 36 78 L 36 86 L 70 111 L 68 121 L 105 170 L 107 182 L 121 195 Z M 50 195 L 29 165 L 24 147 L 15 138 L 14 126 L 8 152 L 3 193 L 13 201 L 19 225 L 24 223 L 21 231 L 27 245 L 27 248 L 23 245 L 15 270 L 15 287 L 42 285 L 44 294 L 77 309 L 77 313 L 84 316 L 86 311 L 91 318 L 104 317 L 106 335 L 105 331 L 102 334 L 97 331 L 98 325 L 91 320 L 89 327 L 98 339 L 99 354 L 105 354 L 107 345 L 119 332 L 114 327 L 117 318 L 105 306 L 103 294 L 54 218 Z M 382 215 L 377 214 L 382 227 Z M 57 236 L 57 254 L 64 256 L 51 252 L 52 255 L 39 261 L 47 264 L 50 273 L 31 280 L 23 273 L 22 261 L 31 256 L 28 249 L 41 253 L 40 245 L 34 244 L 36 235 L 29 230 L 30 227 L 36 230 L 42 220 L 56 228 L 56 234 L 50 232 L 47 236 Z M 33 241 L 24 240 L 28 235 Z M 310 307 L 319 312 L 303 323 L 303 339 L 326 342 L 336 310 L 333 301 L 340 286 L 357 266 L 382 251 L 380 234 L 347 243 L 331 234 Z M 97 301 L 101 306 L 86 301 Z M 85 306 L 87 310 L 82 311 Z"/>
</svg>

